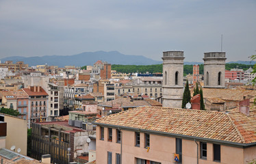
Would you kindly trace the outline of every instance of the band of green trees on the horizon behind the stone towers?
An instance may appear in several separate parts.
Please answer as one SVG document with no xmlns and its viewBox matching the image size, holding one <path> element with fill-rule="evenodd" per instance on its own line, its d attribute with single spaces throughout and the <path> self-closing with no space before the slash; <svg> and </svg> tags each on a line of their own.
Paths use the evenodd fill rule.
<svg viewBox="0 0 256 164">
<path fill-rule="evenodd" d="M 253 65 L 246 65 L 246 64 L 226 64 L 226 70 L 231 70 L 232 68 L 240 68 L 243 70 L 248 70 L 248 68 L 253 68 Z M 120 64 L 113 64 L 112 70 L 116 70 L 116 72 L 121 73 L 157 73 L 163 72 L 163 64 L 155 64 L 155 65 L 120 65 Z M 192 74 L 193 73 L 193 65 L 184 65 L 184 75 Z M 203 74 L 203 64 L 199 65 L 199 73 Z"/>
</svg>

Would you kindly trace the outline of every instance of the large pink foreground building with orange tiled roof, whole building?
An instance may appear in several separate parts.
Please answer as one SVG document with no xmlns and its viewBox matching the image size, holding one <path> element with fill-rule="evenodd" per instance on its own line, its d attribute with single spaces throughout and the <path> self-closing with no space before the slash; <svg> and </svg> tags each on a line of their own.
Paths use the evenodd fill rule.
<svg viewBox="0 0 256 164">
<path fill-rule="evenodd" d="M 256 159 L 256 110 L 249 117 L 138 107 L 95 122 L 96 163 L 247 163 Z"/>
</svg>

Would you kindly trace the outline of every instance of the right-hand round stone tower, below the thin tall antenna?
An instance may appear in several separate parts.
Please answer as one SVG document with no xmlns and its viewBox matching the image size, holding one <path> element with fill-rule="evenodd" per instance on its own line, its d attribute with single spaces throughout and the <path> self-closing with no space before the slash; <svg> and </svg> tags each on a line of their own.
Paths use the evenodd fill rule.
<svg viewBox="0 0 256 164">
<path fill-rule="evenodd" d="M 225 52 L 205 53 L 204 65 L 204 87 L 225 88 Z"/>
</svg>

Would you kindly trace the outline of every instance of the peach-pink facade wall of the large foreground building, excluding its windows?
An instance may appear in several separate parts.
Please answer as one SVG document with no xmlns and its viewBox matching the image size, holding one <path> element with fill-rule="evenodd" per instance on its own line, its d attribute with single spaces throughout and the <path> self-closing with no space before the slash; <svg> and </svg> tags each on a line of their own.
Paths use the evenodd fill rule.
<svg viewBox="0 0 256 164">
<path fill-rule="evenodd" d="M 140 147 L 135 146 L 135 133 L 133 131 L 123 132 L 123 164 L 135 163 L 136 158 L 155 161 L 162 164 L 174 162 L 175 138 L 161 135 L 150 135 L 150 149 L 144 148 L 144 133 L 140 133 Z M 97 126 L 97 163 L 106 163 L 107 152 L 112 152 L 112 163 L 116 163 L 116 153 L 120 154 L 120 143 L 116 143 L 116 129 L 112 130 L 112 141 L 107 141 L 107 128 L 104 128 L 104 141 L 100 140 L 100 128 Z M 199 143 L 199 163 L 216 164 L 213 161 L 213 143 L 207 143 L 207 159 L 200 159 Z M 182 139 L 182 163 L 196 163 L 197 145 L 195 141 Z M 246 150 L 247 159 L 256 158 L 256 148 Z M 244 163 L 244 149 L 231 146 L 220 146 L 220 163 Z"/>
</svg>

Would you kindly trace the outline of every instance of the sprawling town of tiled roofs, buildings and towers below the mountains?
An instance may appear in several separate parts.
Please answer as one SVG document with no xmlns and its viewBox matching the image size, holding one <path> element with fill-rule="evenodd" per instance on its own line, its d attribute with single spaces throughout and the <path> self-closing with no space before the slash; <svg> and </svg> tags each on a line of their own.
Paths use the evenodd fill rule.
<svg viewBox="0 0 256 164">
<path fill-rule="evenodd" d="M 185 76 L 183 51 L 154 74 L 0 62 L 1 163 L 255 162 L 253 68 L 202 58 Z"/>
</svg>

